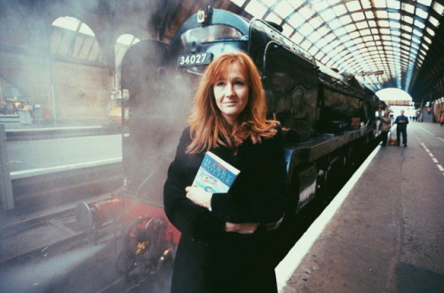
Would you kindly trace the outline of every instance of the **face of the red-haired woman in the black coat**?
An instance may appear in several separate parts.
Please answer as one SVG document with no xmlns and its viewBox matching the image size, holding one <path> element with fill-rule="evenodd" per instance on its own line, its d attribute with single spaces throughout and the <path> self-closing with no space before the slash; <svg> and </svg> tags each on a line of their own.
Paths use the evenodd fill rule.
<svg viewBox="0 0 444 293">
<path fill-rule="evenodd" d="M 227 75 L 214 83 L 213 91 L 220 112 L 233 125 L 249 101 L 247 77 L 242 74 L 241 66 L 234 63 Z"/>
</svg>

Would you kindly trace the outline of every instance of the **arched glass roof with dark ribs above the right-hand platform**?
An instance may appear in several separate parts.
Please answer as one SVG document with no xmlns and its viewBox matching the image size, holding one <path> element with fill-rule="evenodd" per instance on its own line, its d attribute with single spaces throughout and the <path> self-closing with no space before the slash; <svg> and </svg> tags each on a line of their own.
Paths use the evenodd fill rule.
<svg viewBox="0 0 444 293">
<path fill-rule="evenodd" d="M 443 19 L 438 0 L 232 0 L 340 72 L 408 91 Z"/>
</svg>

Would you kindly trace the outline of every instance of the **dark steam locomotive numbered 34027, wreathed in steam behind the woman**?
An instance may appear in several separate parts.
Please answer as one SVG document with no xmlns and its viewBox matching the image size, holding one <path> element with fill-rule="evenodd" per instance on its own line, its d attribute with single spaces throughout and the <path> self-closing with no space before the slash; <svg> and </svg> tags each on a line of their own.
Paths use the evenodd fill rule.
<svg viewBox="0 0 444 293">
<path fill-rule="evenodd" d="M 123 213 L 118 220 L 131 224 L 121 253 L 132 265 L 145 256 L 158 267 L 173 257 L 179 233 L 163 213 L 167 168 L 205 67 L 223 52 L 240 50 L 256 63 L 268 115 L 284 131 L 288 213 L 297 213 L 322 192 L 335 165 L 346 168 L 377 141 L 380 101 L 353 76 L 318 63 L 272 23 L 211 7 L 197 12 L 170 44 L 146 40 L 127 51 L 122 64 L 123 186 L 107 201 L 78 206 L 85 230 L 99 229 L 113 214 L 107 210 Z M 126 267 L 128 273 L 131 265 Z"/>
</svg>

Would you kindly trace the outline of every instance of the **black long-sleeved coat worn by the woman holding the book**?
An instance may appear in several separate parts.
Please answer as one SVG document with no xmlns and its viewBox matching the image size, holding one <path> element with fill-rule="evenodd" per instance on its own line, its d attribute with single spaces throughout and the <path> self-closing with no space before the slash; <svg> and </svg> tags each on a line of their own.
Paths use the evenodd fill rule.
<svg viewBox="0 0 444 293">
<path fill-rule="evenodd" d="M 168 170 L 163 201 L 170 222 L 181 232 L 171 292 L 275 292 L 272 239 L 266 223 L 279 220 L 288 196 L 281 129 L 253 145 L 247 139 L 237 155 L 211 149 L 241 170 L 227 194 L 213 194 L 211 211 L 186 198 L 204 154 L 185 154 L 187 128 Z M 254 234 L 226 233 L 226 222 L 260 223 Z"/>
</svg>

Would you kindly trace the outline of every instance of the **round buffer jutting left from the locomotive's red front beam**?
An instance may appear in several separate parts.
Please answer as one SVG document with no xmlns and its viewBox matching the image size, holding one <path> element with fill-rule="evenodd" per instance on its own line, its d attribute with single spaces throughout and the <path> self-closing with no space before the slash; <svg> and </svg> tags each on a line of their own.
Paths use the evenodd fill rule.
<svg viewBox="0 0 444 293">
<path fill-rule="evenodd" d="M 123 200 L 111 197 L 99 202 L 87 204 L 81 202 L 75 207 L 75 221 L 85 233 L 99 229 L 105 223 L 118 220 L 123 211 Z"/>
</svg>

